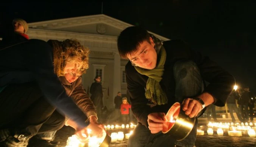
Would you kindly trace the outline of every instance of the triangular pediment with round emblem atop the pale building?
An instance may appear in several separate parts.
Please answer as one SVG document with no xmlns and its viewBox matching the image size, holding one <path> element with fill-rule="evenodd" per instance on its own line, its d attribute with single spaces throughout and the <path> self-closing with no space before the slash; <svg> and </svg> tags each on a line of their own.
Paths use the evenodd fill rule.
<svg viewBox="0 0 256 147">
<path fill-rule="evenodd" d="M 29 28 L 33 29 L 108 36 L 118 36 L 123 29 L 129 26 L 133 26 L 131 24 L 125 23 L 104 14 L 40 21 L 29 23 L 28 25 Z M 162 37 L 160 35 L 154 35 L 156 35 L 156 37 L 160 38 L 163 41 L 169 40 L 168 38 Z"/>
</svg>

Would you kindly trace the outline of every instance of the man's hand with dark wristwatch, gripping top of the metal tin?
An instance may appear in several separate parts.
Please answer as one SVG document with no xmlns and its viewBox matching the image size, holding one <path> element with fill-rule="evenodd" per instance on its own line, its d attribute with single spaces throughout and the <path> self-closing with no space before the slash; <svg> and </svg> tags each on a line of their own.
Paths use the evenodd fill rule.
<svg viewBox="0 0 256 147">
<path fill-rule="evenodd" d="M 205 106 L 208 106 L 212 103 L 214 103 L 214 98 L 211 94 L 205 92 L 202 93 L 198 98 L 201 98 L 205 104 Z M 183 111 L 185 111 L 186 115 L 189 115 L 190 118 L 195 117 L 198 115 L 198 113 L 202 110 L 202 104 L 194 100 L 192 98 L 186 98 L 183 103 Z"/>
</svg>

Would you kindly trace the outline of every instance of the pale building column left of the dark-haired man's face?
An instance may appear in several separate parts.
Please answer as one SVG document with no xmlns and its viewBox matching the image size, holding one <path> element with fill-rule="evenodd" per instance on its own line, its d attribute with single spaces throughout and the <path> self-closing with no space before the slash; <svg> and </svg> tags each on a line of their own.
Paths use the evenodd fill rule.
<svg viewBox="0 0 256 147">
<path fill-rule="evenodd" d="M 114 97 L 117 95 L 117 92 L 121 92 L 121 60 L 118 52 L 113 52 L 114 55 L 114 71 L 113 71 L 113 106 L 114 106 Z"/>
</svg>

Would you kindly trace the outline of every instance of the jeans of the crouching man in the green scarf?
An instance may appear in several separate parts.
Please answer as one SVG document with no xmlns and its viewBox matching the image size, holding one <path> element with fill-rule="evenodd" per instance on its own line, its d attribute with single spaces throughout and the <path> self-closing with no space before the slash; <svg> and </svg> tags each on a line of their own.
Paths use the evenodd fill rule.
<svg viewBox="0 0 256 147">
<path fill-rule="evenodd" d="M 203 80 L 200 70 L 192 61 L 177 61 L 173 66 L 175 78 L 175 98 L 182 103 L 184 98 L 198 96 L 203 91 Z M 151 134 L 150 130 L 142 124 L 137 124 L 133 135 L 128 139 L 128 147 L 194 147 L 197 135 L 197 118 L 189 135 L 182 141 L 176 141 L 163 133 Z"/>
</svg>

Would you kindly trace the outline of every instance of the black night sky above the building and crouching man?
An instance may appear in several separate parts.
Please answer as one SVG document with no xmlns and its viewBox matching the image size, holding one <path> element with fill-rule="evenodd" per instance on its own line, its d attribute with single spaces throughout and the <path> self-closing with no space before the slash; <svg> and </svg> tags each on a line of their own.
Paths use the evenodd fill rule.
<svg viewBox="0 0 256 147">
<path fill-rule="evenodd" d="M 101 14 L 101 2 L 1 3 L 0 22 L 20 17 L 28 23 Z M 139 25 L 170 39 L 183 39 L 219 63 L 240 86 L 256 90 L 256 3 L 214 0 L 106 2 L 103 14 Z"/>
</svg>

